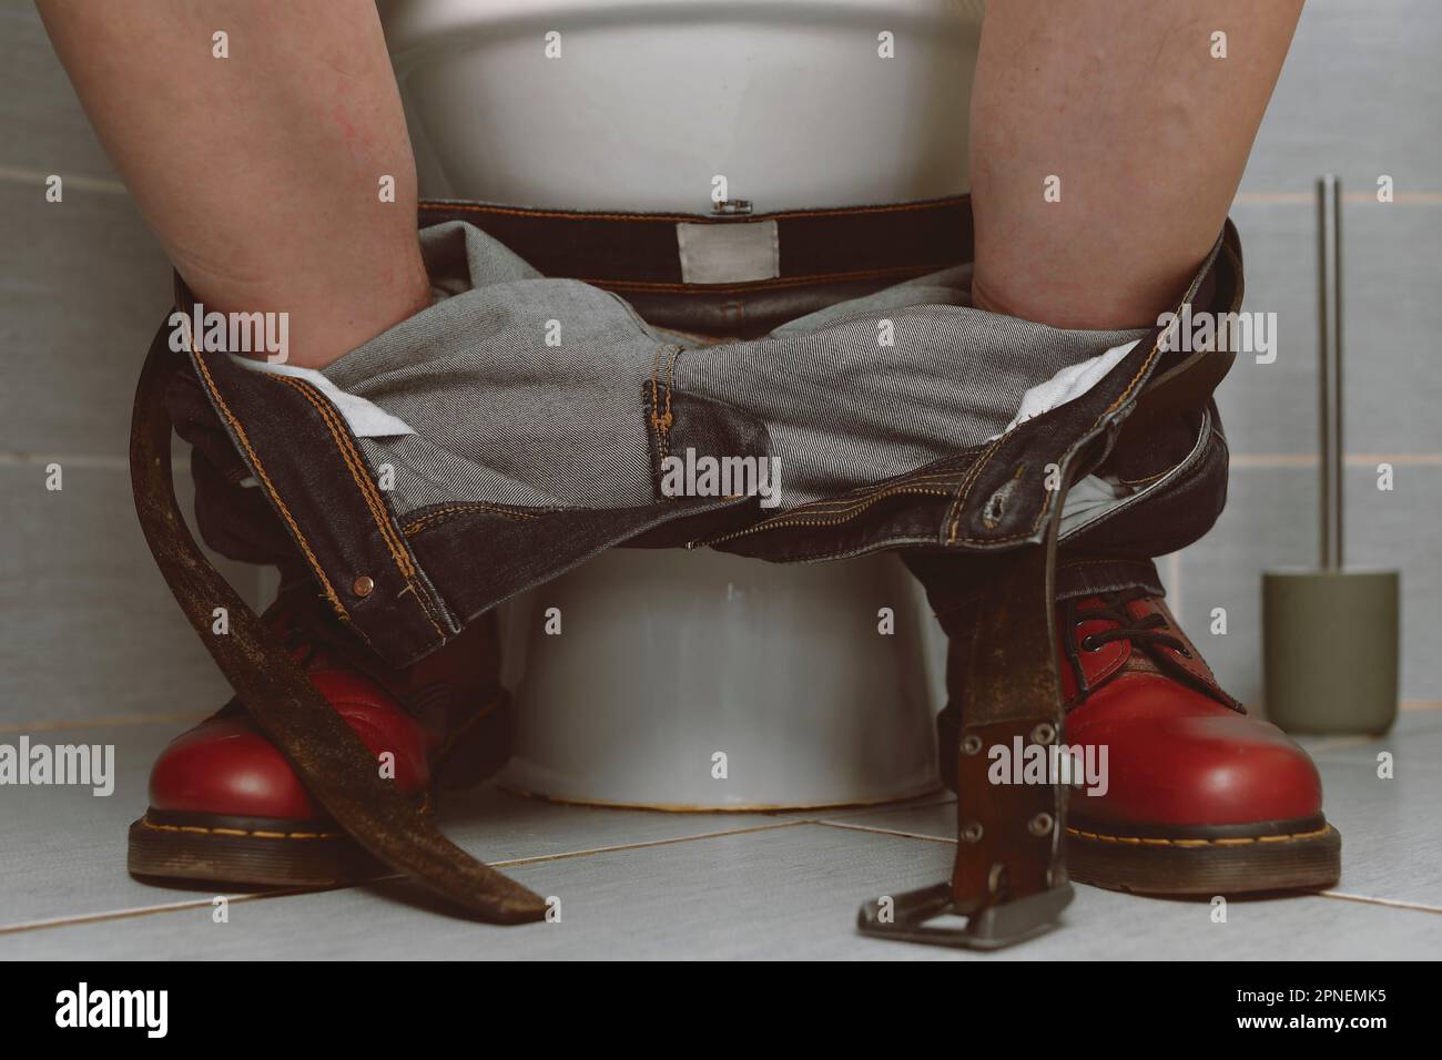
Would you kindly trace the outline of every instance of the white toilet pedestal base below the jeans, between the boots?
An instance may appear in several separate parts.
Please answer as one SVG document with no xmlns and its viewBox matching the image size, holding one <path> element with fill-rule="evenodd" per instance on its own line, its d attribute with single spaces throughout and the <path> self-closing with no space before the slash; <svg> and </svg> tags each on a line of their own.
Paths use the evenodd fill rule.
<svg viewBox="0 0 1442 1060">
<path fill-rule="evenodd" d="M 552 607 L 559 635 L 547 633 Z M 883 607 L 893 635 L 878 632 Z M 503 610 L 519 734 L 502 783 L 672 809 L 930 790 L 933 627 L 893 555 L 777 567 L 606 552 Z"/>
</svg>

